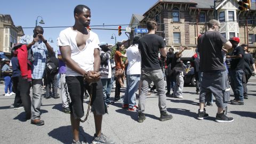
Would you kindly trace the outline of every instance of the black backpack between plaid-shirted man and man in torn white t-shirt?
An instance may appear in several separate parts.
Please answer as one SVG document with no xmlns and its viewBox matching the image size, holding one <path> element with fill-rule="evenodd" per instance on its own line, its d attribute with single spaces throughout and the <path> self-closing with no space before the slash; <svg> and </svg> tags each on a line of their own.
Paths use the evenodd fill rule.
<svg viewBox="0 0 256 144">
<path fill-rule="evenodd" d="M 59 60 L 55 55 L 51 55 L 46 60 L 45 71 L 51 75 L 57 75 L 59 73 Z"/>
</svg>

